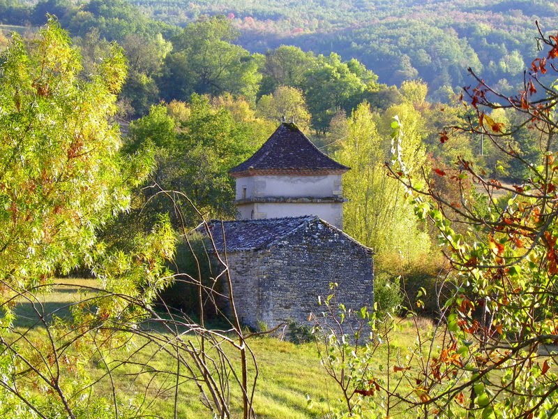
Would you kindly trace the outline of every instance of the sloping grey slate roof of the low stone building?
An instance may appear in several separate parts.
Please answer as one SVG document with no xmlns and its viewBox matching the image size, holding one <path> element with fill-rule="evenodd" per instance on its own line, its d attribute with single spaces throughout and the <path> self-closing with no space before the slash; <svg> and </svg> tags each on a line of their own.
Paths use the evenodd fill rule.
<svg viewBox="0 0 558 419">
<path fill-rule="evenodd" d="M 225 232 L 226 250 L 230 252 L 254 251 L 269 248 L 278 240 L 295 233 L 299 228 L 303 228 L 312 222 L 323 223 L 328 226 L 328 228 L 338 231 L 338 233 L 347 237 L 351 242 L 368 249 L 370 253 L 372 253 L 372 249 L 365 247 L 349 235 L 343 233 L 342 230 L 331 226 L 315 215 L 236 221 L 212 220 L 208 223 L 208 226 L 218 251 L 223 251 L 225 249 L 223 231 Z M 204 224 L 202 223 L 197 226 L 195 231 L 206 233 Z"/>
</svg>

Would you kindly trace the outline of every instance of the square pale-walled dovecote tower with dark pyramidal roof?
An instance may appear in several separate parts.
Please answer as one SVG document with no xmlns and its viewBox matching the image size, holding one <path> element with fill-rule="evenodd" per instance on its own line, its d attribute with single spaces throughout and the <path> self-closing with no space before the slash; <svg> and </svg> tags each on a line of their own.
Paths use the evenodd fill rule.
<svg viewBox="0 0 558 419">
<path fill-rule="evenodd" d="M 236 179 L 237 219 L 315 215 L 342 229 L 341 175 L 347 170 L 284 122 L 229 172 Z"/>
</svg>

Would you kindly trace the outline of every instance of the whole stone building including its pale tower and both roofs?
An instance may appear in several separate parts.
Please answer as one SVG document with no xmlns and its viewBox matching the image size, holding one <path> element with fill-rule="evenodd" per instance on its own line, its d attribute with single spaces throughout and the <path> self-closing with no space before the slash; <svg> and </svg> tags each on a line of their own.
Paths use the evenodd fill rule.
<svg viewBox="0 0 558 419">
<path fill-rule="evenodd" d="M 349 170 L 319 151 L 294 124 L 281 124 L 236 178 L 236 221 L 211 221 L 226 253 L 243 323 L 273 327 L 308 321 L 318 295 L 347 309 L 373 304 L 372 250 L 342 232 L 341 175 Z"/>
</svg>

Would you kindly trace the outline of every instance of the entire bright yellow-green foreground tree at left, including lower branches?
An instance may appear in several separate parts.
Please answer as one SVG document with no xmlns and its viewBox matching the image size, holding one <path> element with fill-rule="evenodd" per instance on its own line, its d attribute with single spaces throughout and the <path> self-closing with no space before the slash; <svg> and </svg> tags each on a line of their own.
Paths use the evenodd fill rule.
<svg viewBox="0 0 558 419">
<path fill-rule="evenodd" d="M 82 360 L 93 352 L 103 356 L 111 344 L 94 344 L 103 321 L 119 318 L 127 328 L 167 282 L 161 280 L 163 262 L 172 255 L 174 237 L 165 223 L 152 235 L 130 237 L 129 253 L 109 253 L 98 242 L 98 228 L 129 207 L 130 188 L 151 165 L 119 153 L 119 129 L 110 122 L 126 75 L 121 50 L 113 45 L 89 80 L 80 77 L 81 69 L 78 50 L 52 19 L 30 45 L 13 36 L 0 59 L 0 413 L 5 417 L 127 414 L 118 397 L 96 395 L 75 353 Z M 74 325 L 50 321 L 38 295 L 55 273 L 84 265 L 102 279 L 104 297 L 82 302 L 86 309 L 74 311 Z M 138 305 L 108 297 L 116 290 Z M 16 299 L 36 309 L 43 328 L 33 331 L 33 339 L 22 339 L 29 330 L 12 327 Z M 103 315 L 87 309 L 93 306 Z M 113 337 L 115 344 L 121 341 Z"/>
</svg>

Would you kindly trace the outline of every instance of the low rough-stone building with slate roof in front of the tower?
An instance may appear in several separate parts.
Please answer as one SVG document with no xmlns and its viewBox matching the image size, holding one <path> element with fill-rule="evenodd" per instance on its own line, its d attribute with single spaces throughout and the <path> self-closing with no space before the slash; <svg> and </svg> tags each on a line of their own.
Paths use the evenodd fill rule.
<svg viewBox="0 0 558 419">
<path fill-rule="evenodd" d="M 227 254 L 242 323 L 307 323 L 331 294 L 347 309 L 372 306 L 372 251 L 317 216 L 212 221 L 216 248 Z M 223 232 L 225 240 L 223 240 Z"/>
</svg>

